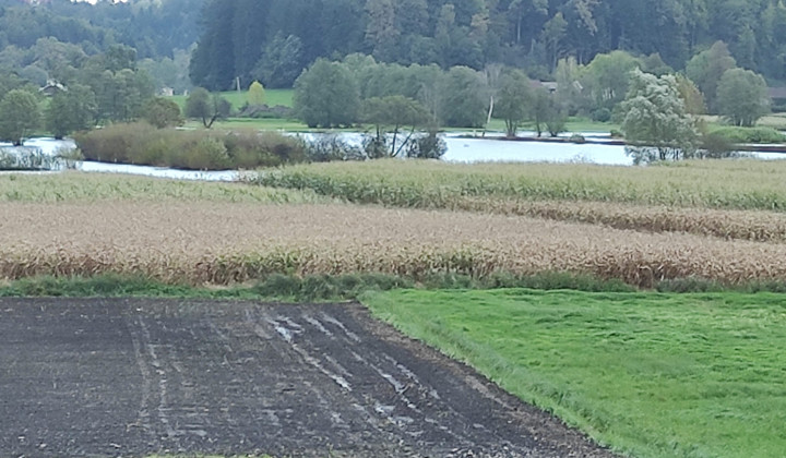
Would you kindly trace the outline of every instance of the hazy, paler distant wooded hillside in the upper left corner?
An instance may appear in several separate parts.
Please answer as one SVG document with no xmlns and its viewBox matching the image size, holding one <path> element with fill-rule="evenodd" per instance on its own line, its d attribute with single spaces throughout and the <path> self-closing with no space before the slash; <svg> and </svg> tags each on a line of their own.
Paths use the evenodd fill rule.
<svg viewBox="0 0 786 458">
<path fill-rule="evenodd" d="M 183 91 L 201 10 L 201 0 L 0 0 L 0 73 L 69 83 L 87 58 L 123 45 L 158 87 Z"/>
</svg>

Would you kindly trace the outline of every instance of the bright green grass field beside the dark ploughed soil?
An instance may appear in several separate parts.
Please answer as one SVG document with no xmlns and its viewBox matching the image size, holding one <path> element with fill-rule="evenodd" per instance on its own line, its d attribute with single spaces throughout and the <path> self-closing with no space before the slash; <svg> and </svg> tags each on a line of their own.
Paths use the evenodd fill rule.
<svg viewBox="0 0 786 458">
<path fill-rule="evenodd" d="M 786 298 L 366 294 L 378 316 L 633 457 L 783 457 Z"/>
</svg>

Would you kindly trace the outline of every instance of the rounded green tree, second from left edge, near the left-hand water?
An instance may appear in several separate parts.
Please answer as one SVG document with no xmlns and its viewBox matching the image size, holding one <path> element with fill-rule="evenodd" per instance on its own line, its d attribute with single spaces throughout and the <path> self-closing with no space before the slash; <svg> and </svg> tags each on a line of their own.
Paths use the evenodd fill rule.
<svg viewBox="0 0 786 458">
<path fill-rule="evenodd" d="M 95 93 L 87 86 L 72 84 L 68 91 L 55 94 L 45 111 L 47 130 L 55 138 L 63 138 L 76 131 L 95 125 L 98 111 Z"/>
</svg>

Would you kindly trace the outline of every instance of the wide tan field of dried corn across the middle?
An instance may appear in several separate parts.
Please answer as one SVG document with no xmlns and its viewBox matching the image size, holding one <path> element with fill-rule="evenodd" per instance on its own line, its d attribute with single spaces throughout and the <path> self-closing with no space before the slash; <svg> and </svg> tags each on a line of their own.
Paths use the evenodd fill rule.
<svg viewBox="0 0 786 458">
<path fill-rule="evenodd" d="M 651 287 L 786 278 L 786 245 L 523 216 L 350 205 L 0 204 L 0 276 L 144 275 L 228 285 L 284 273 L 570 272 Z"/>
</svg>

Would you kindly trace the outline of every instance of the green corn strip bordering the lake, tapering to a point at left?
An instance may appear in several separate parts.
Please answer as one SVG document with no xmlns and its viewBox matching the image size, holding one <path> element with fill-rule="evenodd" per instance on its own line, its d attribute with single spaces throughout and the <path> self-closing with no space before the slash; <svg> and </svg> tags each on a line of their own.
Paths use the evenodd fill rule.
<svg viewBox="0 0 786 458">
<path fill-rule="evenodd" d="M 358 204 L 417 208 L 457 208 L 466 197 L 485 197 L 784 212 L 784 174 L 786 161 L 761 160 L 641 168 L 394 160 L 295 166 L 249 181 Z"/>
</svg>

